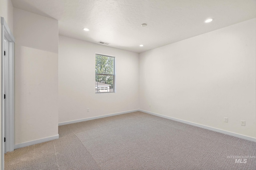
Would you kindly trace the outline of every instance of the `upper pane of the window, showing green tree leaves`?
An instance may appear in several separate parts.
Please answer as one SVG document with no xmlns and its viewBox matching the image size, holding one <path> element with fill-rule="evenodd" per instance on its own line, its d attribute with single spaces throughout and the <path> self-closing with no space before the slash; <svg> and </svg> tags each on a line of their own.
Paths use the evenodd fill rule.
<svg viewBox="0 0 256 170">
<path fill-rule="evenodd" d="M 114 57 L 96 54 L 95 72 L 98 74 L 114 74 Z"/>
</svg>

